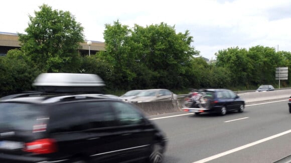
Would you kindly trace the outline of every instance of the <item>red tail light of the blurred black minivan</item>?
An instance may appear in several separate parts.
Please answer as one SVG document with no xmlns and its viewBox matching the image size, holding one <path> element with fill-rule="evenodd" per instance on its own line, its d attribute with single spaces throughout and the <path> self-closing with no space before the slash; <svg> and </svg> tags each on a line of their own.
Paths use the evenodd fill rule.
<svg viewBox="0 0 291 163">
<path fill-rule="evenodd" d="M 24 151 L 37 154 L 47 154 L 57 151 L 56 142 L 51 138 L 38 139 L 32 142 L 27 142 Z"/>
</svg>

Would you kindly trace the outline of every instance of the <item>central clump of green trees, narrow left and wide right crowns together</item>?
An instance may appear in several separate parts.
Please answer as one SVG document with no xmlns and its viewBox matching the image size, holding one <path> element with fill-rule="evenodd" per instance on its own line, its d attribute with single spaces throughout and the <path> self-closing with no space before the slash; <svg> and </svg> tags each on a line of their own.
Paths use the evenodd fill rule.
<svg viewBox="0 0 291 163">
<path fill-rule="evenodd" d="M 188 30 L 176 33 L 174 26 L 163 22 L 146 27 L 135 24 L 130 29 L 117 20 L 105 25 L 104 39 L 113 78 L 123 88 L 186 86 L 181 84 L 183 76 L 190 59 L 199 53 L 191 46 Z"/>
</svg>

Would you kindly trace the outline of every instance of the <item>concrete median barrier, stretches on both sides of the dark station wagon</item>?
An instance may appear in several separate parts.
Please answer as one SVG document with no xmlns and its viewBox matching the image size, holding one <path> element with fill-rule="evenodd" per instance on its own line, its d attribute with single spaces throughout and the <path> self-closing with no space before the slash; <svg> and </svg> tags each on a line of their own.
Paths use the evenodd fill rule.
<svg viewBox="0 0 291 163">
<path fill-rule="evenodd" d="M 291 96 L 291 89 L 264 91 L 264 92 L 248 92 L 238 94 L 246 103 L 267 101 L 274 99 L 288 99 Z M 171 112 L 182 111 L 184 99 L 138 102 L 137 105 L 147 115 L 158 115 Z"/>
</svg>

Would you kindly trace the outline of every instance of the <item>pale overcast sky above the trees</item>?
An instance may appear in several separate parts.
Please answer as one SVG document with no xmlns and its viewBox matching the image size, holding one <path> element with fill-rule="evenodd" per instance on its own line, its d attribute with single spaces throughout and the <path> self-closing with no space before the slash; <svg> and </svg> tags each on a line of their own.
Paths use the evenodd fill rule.
<svg viewBox="0 0 291 163">
<path fill-rule="evenodd" d="M 70 11 L 85 39 L 104 41 L 106 23 L 133 27 L 160 24 L 190 30 L 200 54 L 215 59 L 221 49 L 256 45 L 291 51 L 291 0 L 3 0 L 0 31 L 24 33 L 39 6 Z"/>
</svg>

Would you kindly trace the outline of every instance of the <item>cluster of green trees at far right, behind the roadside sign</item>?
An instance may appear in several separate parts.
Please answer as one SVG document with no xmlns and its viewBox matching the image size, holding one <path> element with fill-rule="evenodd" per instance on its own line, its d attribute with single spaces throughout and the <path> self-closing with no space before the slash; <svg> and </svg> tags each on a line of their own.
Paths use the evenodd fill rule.
<svg viewBox="0 0 291 163">
<path fill-rule="evenodd" d="M 273 47 L 261 45 L 239 49 L 219 50 L 216 65 L 227 68 L 234 85 L 260 85 L 275 83 L 275 68 L 290 66 L 288 52 L 276 52 Z"/>
</svg>

